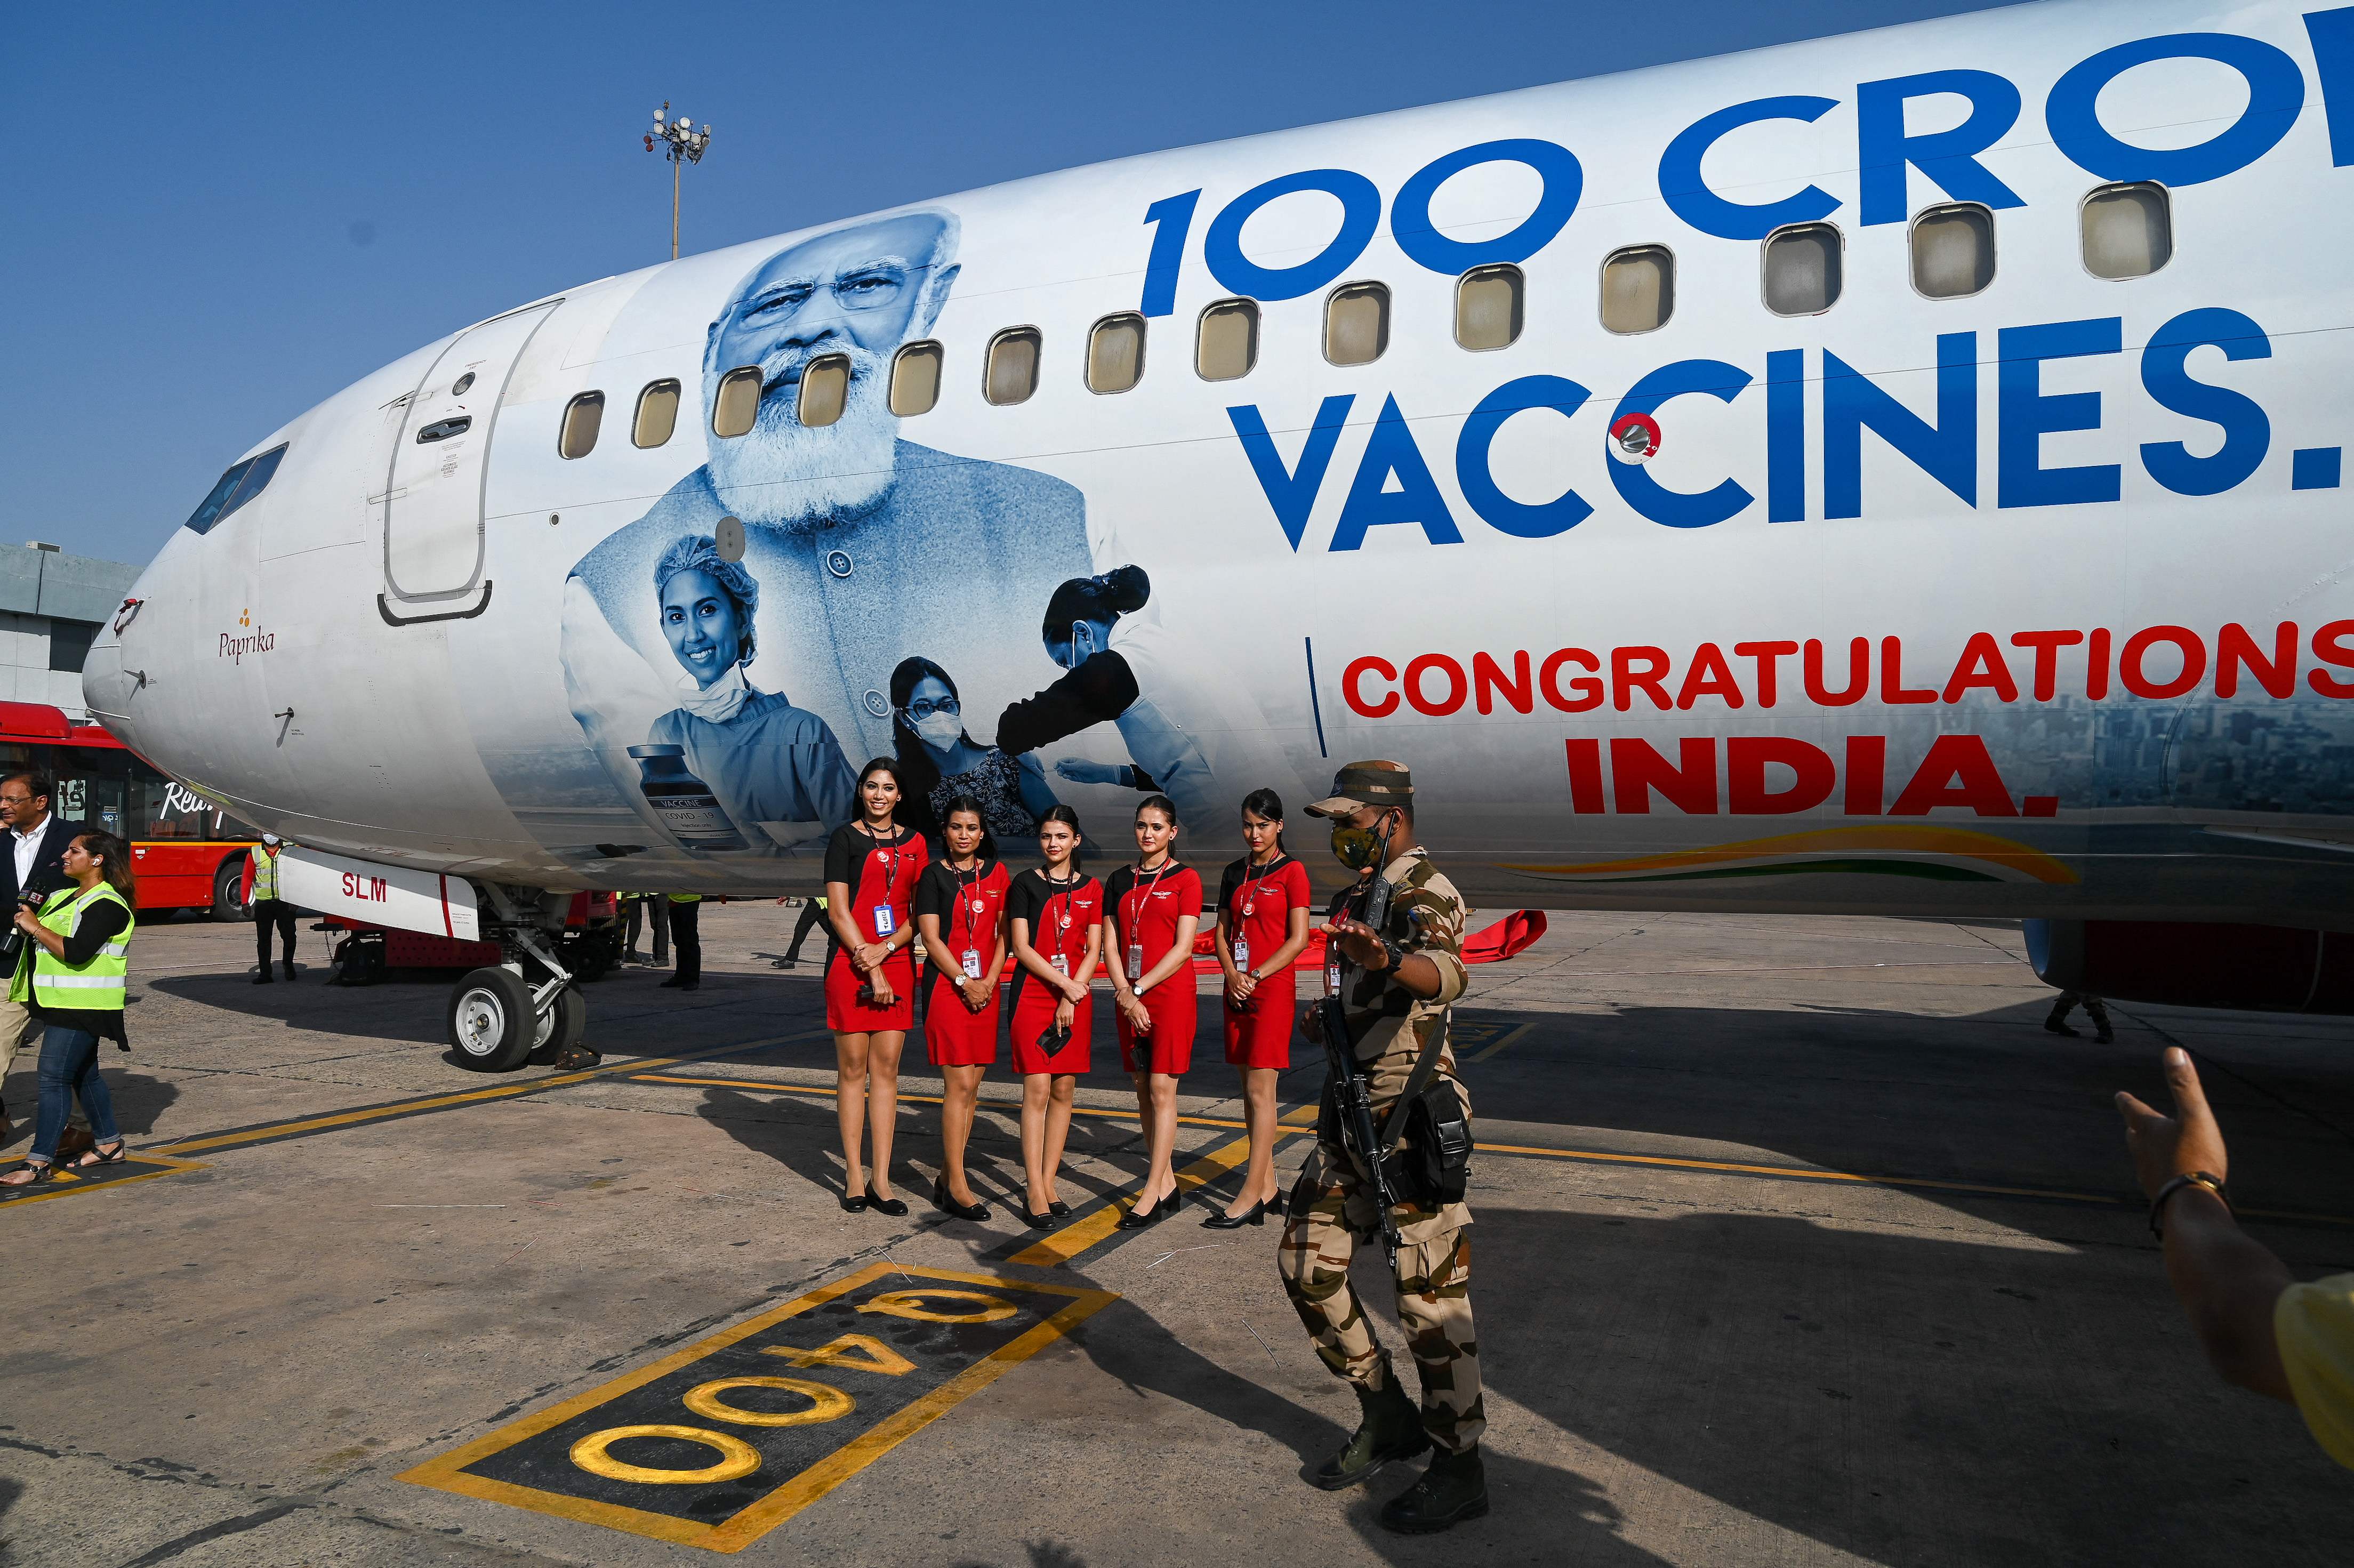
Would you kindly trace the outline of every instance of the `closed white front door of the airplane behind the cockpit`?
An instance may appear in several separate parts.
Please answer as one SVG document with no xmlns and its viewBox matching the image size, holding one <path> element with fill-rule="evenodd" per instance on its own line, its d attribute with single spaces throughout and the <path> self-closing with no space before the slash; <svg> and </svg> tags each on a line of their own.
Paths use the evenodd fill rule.
<svg viewBox="0 0 2354 1568">
<path fill-rule="evenodd" d="M 384 619 L 440 622 L 490 605 L 483 485 L 490 438 L 532 334 L 560 301 L 485 320 L 457 337 L 410 393 L 384 485 Z"/>
</svg>

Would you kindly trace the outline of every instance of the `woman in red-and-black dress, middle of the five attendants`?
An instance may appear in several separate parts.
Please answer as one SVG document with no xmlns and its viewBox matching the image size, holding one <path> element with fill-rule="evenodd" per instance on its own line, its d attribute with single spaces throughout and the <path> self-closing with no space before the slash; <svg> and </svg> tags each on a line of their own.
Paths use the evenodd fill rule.
<svg viewBox="0 0 2354 1568">
<path fill-rule="evenodd" d="M 1095 1031 L 1088 979 L 1104 956 L 1104 885 L 1078 869 L 1078 812 L 1069 805 L 1038 819 L 1038 855 L 1045 866 L 1017 876 L 1005 895 L 1005 930 L 1015 949 L 1012 1041 L 1029 1177 L 1022 1217 L 1043 1231 L 1071 1212 L 1055 1196 L 1055 1175 Z"/>
</svg>

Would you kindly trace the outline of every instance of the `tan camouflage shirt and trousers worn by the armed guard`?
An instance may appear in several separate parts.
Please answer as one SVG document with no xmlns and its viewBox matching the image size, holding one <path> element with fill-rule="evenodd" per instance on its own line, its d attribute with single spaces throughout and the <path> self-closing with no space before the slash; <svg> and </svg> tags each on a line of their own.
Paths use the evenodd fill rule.
<svg viewBox="0 0 2354 1568">
<path fill-rule="evenodd" d="M 1375 1125 L 1405 1090 L 1415 1057 L 1441 1026 L 1445 1005 L 1464 994 L 1462 942 L 1469 916 L 1455 883 L 1419 848 L 1401 855 L 1382 876 L 1394 885 L 1382 935 L 1436 963 L 1441 984 L 1438 996 L 1417 998 L 1387 972 L 1368 975 L 1332 949 L 1332 961 L 1342 963 L 1349 1038 L 1370 1078 Z M 1452 1045 L 1438 1048 L 1436 1078 L 1455 1083 L 1469 1116 L 1471 1097 L 1455 1074 Z M 1471 1208 L 1448 1203 L 1431 1210 L 1405 1201 L 1396 1217 L 1405 1241 L 1398 1248 L 1398 1321 L 1405 1326 L 1405 1349 L 1422 1373 L 1422 1427 L 1443 1453 L 1464 1453 L 1488 1427 L 1478 1391 L 1478 1340 L 1471 1333 Z M 1349 1288 L 1349 1260 L 1358 1245 L 1377 1238 L 1370 1175 L 1342 1147 L 1328 1099 L 1316 1149 L 1292 1187 L 1276 1262 L 1316 1354 L 1335 1375 L 1368 1394 L 1379 1394 L 1394 1373 L 1389 1351 L 1375 1340 L 1372 1321 Z"/>
</svg>

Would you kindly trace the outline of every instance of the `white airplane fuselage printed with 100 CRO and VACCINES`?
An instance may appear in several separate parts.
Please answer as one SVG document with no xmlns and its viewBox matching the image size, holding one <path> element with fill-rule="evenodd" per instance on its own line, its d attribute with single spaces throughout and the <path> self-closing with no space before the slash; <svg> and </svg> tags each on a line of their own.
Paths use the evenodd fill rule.
<svg viewBox="0 0 2354 1568">
<path fill-rule="evenodd" d="M 2088 200 L 2154 207 L 2170 254 L 2095 275 Z M 972 742 L 935 765 L 972 760 L 1095 647 L 1050 652 L 1055 589 L 1137 565 L 1149 598 L 1104 610 L 1135 695 L 982 779 L 1111 855 L 1121 768 L 1217 862 L 1250 789 L 1311 838 L 1297 805 L 1382 756 L 1490 902 L 2345 930 L 2349 212 L 2354 12 L 2175 0 L 1066 170 L 588 283 L 363 377 L 174 532 L 85 692 L 304 845 L 807 890 L 840 770 L 916 737 L 906 659 Z M 1773 308 L 1824 287 L 1768 285 L 1777 233 L 1836 261 L 1827 308 Z M 1937 268 L 1984 266 L 1980 235 L 1968 290 Z M 1511 287 L 1481 268 L 1518 268 L 1495 348 L 1457 341 L 1464 275 Z M 1603 325 L 1605 278 L 1645 330 Z M 1328 344 L 1363 283 L 1384 327 L 1351 337 L 1358 290 Z M 1255 360 L 1205 379 L 1236 299 Z M 1142 377 L 1090 391 L 1118 315 Z M 1019 400 L 1019 346 L 989 372 L 1012 330 Z M 906 344 L 942 377 L 899 417 Z M 847 407 L 805 424 L 829 353 Z M 742 365 L 758 424 L 723 436 Z"/>
</svg>

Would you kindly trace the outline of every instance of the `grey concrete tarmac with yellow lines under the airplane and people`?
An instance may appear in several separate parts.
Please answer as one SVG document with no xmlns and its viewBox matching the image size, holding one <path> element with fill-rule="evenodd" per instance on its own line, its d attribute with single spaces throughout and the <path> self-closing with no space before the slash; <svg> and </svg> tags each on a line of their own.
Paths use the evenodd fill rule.
<svg viewBox="0 0 2354 1568">
<path fill-rule="evenodd" d="M 2250 1229 L 2354 1267 L 2354 1022 L 2114 1008 L 2041 1029 L 2015 925 L 1556 913 L 1474 970 L 1474 1304 L 1492 1514 L 1302 1481 L 1356 1403 L 1276 1229 L 1116 1231 L 1142 1172 L 1097 1008 L 1055 1231 L 843 1212 L 817 949 L 706 904 L 694 994 L 593 986 L 588 1074 L 483 1076 L 447 975 L 250 984 L 252 930 L 132 954 L 137 1161 L 0 1203 L 0 1563 L 2345 1563 L 2354 1476 L 2220 1384 L 2109 1095 L 2199 1052 Z M 1203 1008 L 1179 1165 L 1224 1203 Z M 1306 1151 L 1297 1050 L 1278 1170 Z M 7 1083 L 28 1144 L 31 1055 Z M 1384 1340 L 1379 1253 L 1361 1260 Z M 1403 1361 L 1403 1354 L 1401 1354 Z"/>
</svg>

